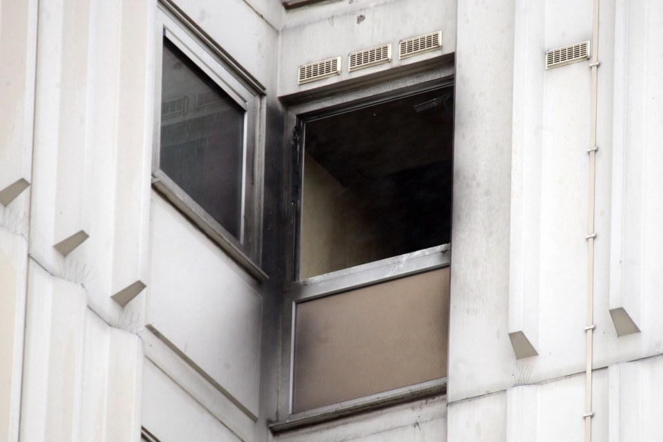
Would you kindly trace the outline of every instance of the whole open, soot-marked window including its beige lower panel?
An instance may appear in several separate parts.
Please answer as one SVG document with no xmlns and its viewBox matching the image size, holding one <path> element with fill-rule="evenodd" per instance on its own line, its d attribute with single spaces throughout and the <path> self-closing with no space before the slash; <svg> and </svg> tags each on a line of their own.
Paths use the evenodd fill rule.
<svg viewBox="0 0 663 442">
<path fill-rule="evenodd" d="M 445 392 L 453 115 L 448 80 L 298 114 L 289 418 L 273 431 Z"/>
</svg>

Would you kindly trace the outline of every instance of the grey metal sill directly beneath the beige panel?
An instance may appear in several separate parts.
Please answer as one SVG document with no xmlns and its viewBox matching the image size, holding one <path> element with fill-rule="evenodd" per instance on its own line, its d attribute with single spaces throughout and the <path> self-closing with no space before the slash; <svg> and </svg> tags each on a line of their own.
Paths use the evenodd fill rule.
<svg viewBox="0 0 663 442">
<path fill-rule="evenodd" d="M 434 379 L 417 385 L 397 388 L 388 392 L 372 394 L 363 398 L 352 399 L 307 412 L 291 414 L 285 421 L 269 425 L 272 434 L 299 430 L 311 425 L 319 425 L 357 414 L 381 410 L 402 403 L 419 401 L 432 396 L 441 396 L 447 392 L 447 378 Z"/>
</svg>

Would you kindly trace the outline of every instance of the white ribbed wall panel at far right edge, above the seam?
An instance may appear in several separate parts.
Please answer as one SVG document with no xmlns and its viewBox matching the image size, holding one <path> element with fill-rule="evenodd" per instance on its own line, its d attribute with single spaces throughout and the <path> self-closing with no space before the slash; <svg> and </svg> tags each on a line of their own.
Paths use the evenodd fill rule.
<svg viewBox="0 0 663 442">
<path fill-rule="evenodd" d="M 657 189 L 663 165 L 662 5 L 655 1 L 615 1 L 613 193 L 610 309 L 624 309 L 642 331 L 642 349 L 661 352 L 646 336 L 660 336 L 658 294 L 663 290 L 657 262 L 663 258 L 663 205 Z M 652 230 L 653 229 L 653 230 Z M 617 325 L 617 323 L 615 323 Z M 624 330 L 626 334 L 635 330 Z M 619 330 L 618 330 L 619 332 Z"/>
</svg>

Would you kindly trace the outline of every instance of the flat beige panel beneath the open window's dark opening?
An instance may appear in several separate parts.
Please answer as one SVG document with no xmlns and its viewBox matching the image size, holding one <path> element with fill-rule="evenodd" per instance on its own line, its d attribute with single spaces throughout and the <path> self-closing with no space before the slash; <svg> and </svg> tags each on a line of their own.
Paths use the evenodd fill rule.
<svg viewBox="0 0 663 442">
<path fill-rule="evenodd" d="M 446 376 L 449 269 L 302 302 L 293 412 Z"/>
</svg>

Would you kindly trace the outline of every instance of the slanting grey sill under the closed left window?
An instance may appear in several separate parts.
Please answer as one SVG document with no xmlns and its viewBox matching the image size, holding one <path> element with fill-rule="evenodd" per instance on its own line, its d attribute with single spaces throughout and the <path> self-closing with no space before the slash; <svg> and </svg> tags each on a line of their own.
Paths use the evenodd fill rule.
<svg viewBox="0 0 663 442">
<path fill-rule="evenodd" d="M 204 213 L 204 211 L 197 211 L 195 209 L 197 204 L 195 204 L 186 193 L 171 189 L 171 186 L 166 184 L 169 178 L 165 175 L 161 175 L 164 174 L 160 171 L 155 171 L 152 177 L 152 186 L 160 193 L 160 195 L 164 196 L 166 200 L 169 200 L 169 202 L 180 210 L 186 218 L 189 218 L 193 224 L 218 244 L 221 249 L 228 253 L 228 255 L 237 262 L 242 269 L 246 270 L 251 276 L 253 276 L 253 278 L 256 278 L 259 282 L 265 282 L 269 279 L 269 276 L 265 271 L 260 269 L 251 258 L 246 256 L 236 244 L 233 244 L 233 242 L 229 240 L 220 229 L 214 227 L 213 224 L 218 224 L 217 222 L 211 220 L 211 217 L 207 213 Z"/>
</svg>

